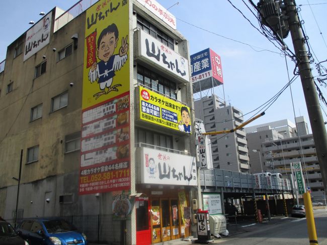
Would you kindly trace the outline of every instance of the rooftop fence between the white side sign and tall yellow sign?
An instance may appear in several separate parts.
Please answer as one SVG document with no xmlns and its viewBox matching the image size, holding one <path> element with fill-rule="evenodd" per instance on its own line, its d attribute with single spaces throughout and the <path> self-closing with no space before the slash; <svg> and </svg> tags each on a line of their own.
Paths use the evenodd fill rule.
<svg viewBox="0 0 327 245">
<path fill-rule="evenodd" d="M 74 18 L 79 16 L 81 13 L 89 9 L 92 5 L 97 3 L 99 0 L 80 0 L 77 4 L 72 6 L 69 10 L 63 13 L 54 21 L 54 31 L 58 31 L 63 26 L 67 25 Z"/>
</svg>

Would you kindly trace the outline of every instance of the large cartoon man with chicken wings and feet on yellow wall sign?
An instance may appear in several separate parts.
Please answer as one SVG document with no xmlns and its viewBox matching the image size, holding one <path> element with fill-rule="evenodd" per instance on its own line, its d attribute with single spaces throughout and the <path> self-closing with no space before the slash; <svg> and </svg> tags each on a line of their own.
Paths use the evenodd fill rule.
<svg viewBox="0 0 327 245">
<path fill-rule="evenodd" d="M 98 99 L 101 95 L 111 91 L 118 91 L 120 83 L 113 85 L 115 72 L 120 70 L 127 61 L 128 35 L 122 38 L 119 53 L 114 54 L 119 43 L 119 32 L 115 24 L 106 27 L 99 35 L 97 42 L 97 57 L 99 62 L 94 62 L 89 71 L 91 83 L 98 80 L 100 92 L 93 96 Z"/>
</svg>

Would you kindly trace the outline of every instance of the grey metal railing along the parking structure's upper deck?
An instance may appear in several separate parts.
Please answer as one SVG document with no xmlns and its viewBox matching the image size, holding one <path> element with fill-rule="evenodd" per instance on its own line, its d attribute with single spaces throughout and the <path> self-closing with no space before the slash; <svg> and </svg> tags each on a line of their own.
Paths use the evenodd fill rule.
<svg viewBox="0 0 327 245">
<path fill-rule="evenodd" d="M 248 189 L 251 191 L 279 191 L 291 192 L 291 182 L 289 179 L 271 177 L 271 184 L 265 176 L 258 176 L 259 183 L 254 174 L 233 172 L 222 169 L 208 169 L 200 172 L 201 186 L 226 189 Z M 251 189 L 251 191 L 250 191 Z"/>
</svg>

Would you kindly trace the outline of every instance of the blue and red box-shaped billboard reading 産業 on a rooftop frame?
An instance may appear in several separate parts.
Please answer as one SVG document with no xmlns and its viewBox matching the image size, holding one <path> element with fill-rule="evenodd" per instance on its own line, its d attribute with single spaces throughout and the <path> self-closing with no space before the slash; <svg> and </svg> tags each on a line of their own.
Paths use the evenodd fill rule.
<svg viewBox="0 0 327 245">
<path fill-rule="evenodd" d="M 191 77 L 192 82 L 213 77 L 223 83 L 220 56 L 210 48 L 191 55 Z"/>
</svg>

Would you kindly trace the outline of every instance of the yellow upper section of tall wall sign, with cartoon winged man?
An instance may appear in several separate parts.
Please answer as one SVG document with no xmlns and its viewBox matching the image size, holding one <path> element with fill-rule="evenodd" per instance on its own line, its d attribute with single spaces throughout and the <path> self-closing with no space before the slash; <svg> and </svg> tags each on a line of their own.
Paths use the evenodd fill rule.
<svg viewBox="0 0 327 245">
<path fill-rule="evenodd" d="M 129 90 L 129 1 L 99 1 L 85 26 L 83 109 Z"/>
</svg>

